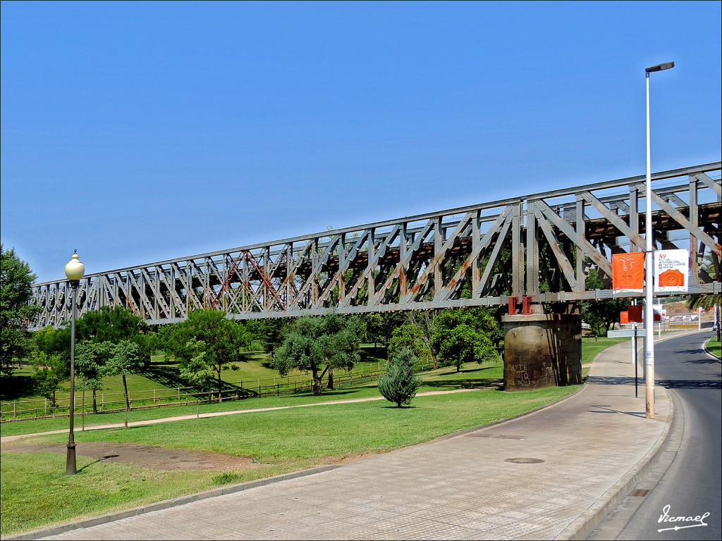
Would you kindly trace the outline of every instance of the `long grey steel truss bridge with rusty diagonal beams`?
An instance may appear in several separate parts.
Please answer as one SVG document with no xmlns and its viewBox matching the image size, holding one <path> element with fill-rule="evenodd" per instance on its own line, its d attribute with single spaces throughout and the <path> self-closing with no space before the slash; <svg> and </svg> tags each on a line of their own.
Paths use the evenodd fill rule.
<svg viewBox="0 0 722 541">
<path fill-rule="evenodd" d="M 656 249 L 688 248 L 690 292 L 719 293 L 721 162 L 652 176 Z M 645 176 L 404 216 L 82 279 L 79 315 L 122 306 L 149 323 L 612 298 L 612 254 L 644 250 Z M 591 268 L 606 289 L 587 291 Z M 67 281 L 33 286 L 30 328 L 69 320 Z M 641 295 L 639 295 L 641 296 Z"/>
</svg>

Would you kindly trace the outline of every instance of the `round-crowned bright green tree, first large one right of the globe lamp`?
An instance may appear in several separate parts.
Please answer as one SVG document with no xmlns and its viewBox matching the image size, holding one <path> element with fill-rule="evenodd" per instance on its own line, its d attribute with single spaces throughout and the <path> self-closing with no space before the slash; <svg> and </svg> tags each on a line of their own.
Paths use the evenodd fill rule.
<svg viewBox="0 0 722 541">
<path fill-rule="evenodd" d="M 248 333 L 243 325 L 228 320 L 220 310 L 193 310 L 188 319 L 161 330 L 165 349 L 181 362 L 186 374 L 193 367 L 204 372 L 204 366 L 213 366 L 218 382 L 218 400 L 222 400 L 221 371 L 225 366 L 235 368 L 233 363 L 243 361 L 241 352 L 248 343 Z M 203 362 L 199 363 L 199 346 L 203 346 Z M 200 377 L 200 376 L 199 376 Z"/>
</svg>

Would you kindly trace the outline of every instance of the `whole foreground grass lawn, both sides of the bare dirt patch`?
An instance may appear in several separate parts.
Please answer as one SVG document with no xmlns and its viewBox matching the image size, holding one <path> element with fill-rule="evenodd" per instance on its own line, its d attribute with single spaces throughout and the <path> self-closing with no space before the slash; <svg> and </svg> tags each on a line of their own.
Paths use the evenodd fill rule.
<svg viewBox="0 0 722 541">
<path fill-rule="evenodd" d="M 319 405 L 127 430 L 76 432 L 76 442 L 79 454 L 83 443 L 105 441 L 251 457 L 257 467 L 232 472 L 237 474 L 236 482 L 243 482 L 496 423 L 554 403 L 579 388 L 432 395 L 414 398 L 409 408 L 394 408 L 385 400 Z M 64 434 L 38 436 L 32 443 L 66 439 Z M 78 474 L 67 477 L 62 454 L 4 452 L 0 466 L 2 535 L 196 493 L 219 482 L 214 480 L 218 472 L 157 472 L 80 456 Z"/>
</svg>

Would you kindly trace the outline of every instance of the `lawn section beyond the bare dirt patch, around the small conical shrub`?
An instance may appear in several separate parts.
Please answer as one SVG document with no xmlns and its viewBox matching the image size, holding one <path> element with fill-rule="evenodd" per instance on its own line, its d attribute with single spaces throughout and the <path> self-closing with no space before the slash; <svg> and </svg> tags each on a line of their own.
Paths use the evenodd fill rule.
<svg viewBox="0 0 722 541">
<path fill-rule="evenodd" d="M 76 436 L 85 441 L 157 445 L 251 457 L 254 462 L 339 457 L 418 444 L 437 436 L 502 421 L 540 408 L 580 386 L 503 392 L 486 390 L 416 397 L 409 408 L 386 400 L 258 411 Z M 349 419 L 353 419 L 349 423 Z M 33 441 L 64 442 L 64 434 Z"/>
</svg>

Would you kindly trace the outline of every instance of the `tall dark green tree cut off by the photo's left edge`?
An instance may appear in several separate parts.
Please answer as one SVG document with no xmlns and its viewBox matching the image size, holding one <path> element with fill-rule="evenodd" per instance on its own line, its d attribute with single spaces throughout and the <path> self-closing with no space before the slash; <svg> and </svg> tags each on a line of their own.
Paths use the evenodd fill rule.
<svg viewBox="0 0 722 541">
<path fill-rule="evenodd" d="M 35 274 L 14 248 L 0 244 L 0 377 L 11 377 L 15 364 L 28 349 L 27 321 L 40 307 L 28 304 Z"/>
</svg>

